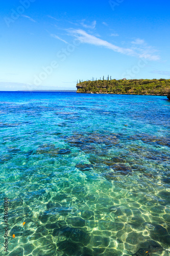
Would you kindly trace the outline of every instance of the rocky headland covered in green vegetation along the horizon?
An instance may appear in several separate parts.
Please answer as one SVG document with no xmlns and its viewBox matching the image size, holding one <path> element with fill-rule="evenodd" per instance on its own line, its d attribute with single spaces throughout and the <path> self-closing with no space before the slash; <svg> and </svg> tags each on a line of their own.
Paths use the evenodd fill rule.
<svg viewBox="0 0 170 256">
<path fill-rule="evenodd" d="M 103 79 L 80 81 L 76 87 L 77 93 L 168 95 L 170 79 Z"/>
</svg>

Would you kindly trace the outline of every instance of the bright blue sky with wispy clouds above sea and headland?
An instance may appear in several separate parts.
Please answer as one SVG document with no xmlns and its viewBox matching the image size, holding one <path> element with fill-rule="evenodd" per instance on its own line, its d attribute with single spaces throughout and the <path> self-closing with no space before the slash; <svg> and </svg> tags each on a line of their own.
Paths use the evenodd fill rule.
<svg viewBox="0 0 170 256">
<path fill-rule="evenodd" d="M 77 79 L 170 78 L 169 1 L 8 0 L 0 90 L 76 90 Z"/>
</svg>

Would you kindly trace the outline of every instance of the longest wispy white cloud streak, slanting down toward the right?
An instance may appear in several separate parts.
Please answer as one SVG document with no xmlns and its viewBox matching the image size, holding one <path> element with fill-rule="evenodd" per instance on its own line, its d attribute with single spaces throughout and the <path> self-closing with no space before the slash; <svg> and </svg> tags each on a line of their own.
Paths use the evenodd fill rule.
<svg viewBox="0 0 170 256">
<path fill-rule="evenodd" d="M 119 46 L 115 46 L 110 42 L 100 39 L 94 35 L 88 34 L 86 31 L 81 29 L 69 29 L 67 30 L 71 36 L 76 37 L 80 42 L 84 44 L 90 44 L 95 46 L 101 46 L 108 49 L 113 50 L 114 52 L 119 52 L 122 54 L 136 56 L 139 58 L 149 59 L 149 60 L 158 60 L 158 55 L 152 55 L 150 52 L 153 51 L 151 47 L 143 47 L 143 48 L 123 48 Z"/>
</svg>

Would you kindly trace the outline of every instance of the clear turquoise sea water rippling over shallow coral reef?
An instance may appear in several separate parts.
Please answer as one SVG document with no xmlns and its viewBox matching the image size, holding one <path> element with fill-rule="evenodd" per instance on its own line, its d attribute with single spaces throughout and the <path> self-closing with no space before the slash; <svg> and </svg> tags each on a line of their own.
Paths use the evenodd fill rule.
<svg viewBox="0 0 170 256">
<path fill-rule="evenodd" d="M 1 92 L 0 254 L 168 249 L 169 111 L 160 96 Z"/>
</svg>

